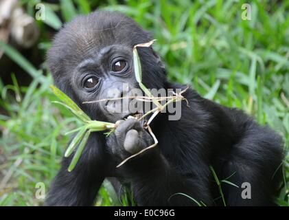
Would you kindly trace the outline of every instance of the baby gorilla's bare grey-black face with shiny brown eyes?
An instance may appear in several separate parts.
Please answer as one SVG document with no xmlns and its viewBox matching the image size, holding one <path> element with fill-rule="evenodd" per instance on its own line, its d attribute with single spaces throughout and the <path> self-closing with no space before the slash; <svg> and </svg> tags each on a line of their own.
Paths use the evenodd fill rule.
<svg viewBox="0 0 289 220">
<path fill-rule="evenodd" d="M 100 109 L 109 122 L 140 112 L 131 108 L 130 96 L 137 88 L 132 50 L 122 45 L 109 45 L 80 62 L 73 71 L 71 85 L 78 100 L 91 109 Z"/>
</svg>

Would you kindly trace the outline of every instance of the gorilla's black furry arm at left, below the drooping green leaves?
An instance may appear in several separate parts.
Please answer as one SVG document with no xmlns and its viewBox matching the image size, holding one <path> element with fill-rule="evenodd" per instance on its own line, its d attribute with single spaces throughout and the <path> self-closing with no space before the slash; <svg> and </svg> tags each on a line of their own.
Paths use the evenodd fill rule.
<svg viewBox="0 0 289 220">
<path fill-rule="evenodd" d="M 70 173 L 67 168 L 73 155 L 62 159 L 62 166 L 56 175 L 46 200 L 47 206 L 91 206 L 106 172 L 106 155 L 95 135 L 91 135 L 82 152 L 76 168 Z"/>
</svg>

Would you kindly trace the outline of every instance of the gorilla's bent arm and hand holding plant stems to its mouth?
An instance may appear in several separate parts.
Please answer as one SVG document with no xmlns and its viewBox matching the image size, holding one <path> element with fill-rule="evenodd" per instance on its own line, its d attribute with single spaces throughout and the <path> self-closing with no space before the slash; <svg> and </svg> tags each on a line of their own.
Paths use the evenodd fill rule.
<svg viewBox="0 0 289 220">
<path fill-rule="evenodd" d="M 132 151 L 132 146 L 139 151 L 152 144 L 152 137 L 137 120 L 128 119 L 120 122 L 115 133 L 108 137 L 107 144 L 111 153 L 121 161 L 132 154 L 128 153 L 128 149 Z M 200 167 L 208 166 L 200 164 Z M 194 177 L 191 170 L 174 168 L 161 154 L 158 146 L 130 159 L 117 168 L 117 173 L 130 181 L 139 206 L 196 206 L 196 201 L 212 204 L 206 178 Z M 176 195 L 178 192 L 196 201 L 185 195 Z"/>
</svg>

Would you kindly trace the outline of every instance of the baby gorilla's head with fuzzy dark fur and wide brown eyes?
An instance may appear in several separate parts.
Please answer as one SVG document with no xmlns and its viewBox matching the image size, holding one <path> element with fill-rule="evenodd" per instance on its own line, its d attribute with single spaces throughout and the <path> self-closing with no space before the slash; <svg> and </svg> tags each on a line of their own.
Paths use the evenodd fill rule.
<svg viewBox="0 0 289 220">
<path fill-rule="evenodd" d="M 76 17 L 56 34 L 47 63 L 56 86 L 91 118 L 115 122 L 130 114 L 112 113 L 123 100 L 82 102 L 120 98 L 124 90 L 137 88 L 132 48 L 150 40 L 150 34 L 124 14 L 94 12 Z M 151 47 L 139 48 L 138 52 L 143 84 L 148 88 L 164 87 L 165 70 L 159 56 Z"/>
</svg>

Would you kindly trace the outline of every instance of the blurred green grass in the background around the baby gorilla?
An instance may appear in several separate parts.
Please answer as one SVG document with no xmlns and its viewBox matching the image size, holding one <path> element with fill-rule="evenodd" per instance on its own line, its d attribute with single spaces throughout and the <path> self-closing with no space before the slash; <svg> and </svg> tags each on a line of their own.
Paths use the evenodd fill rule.
<svg viewBox="0 0 289 220">
<path fill-rule="evenodd" d="M 22 2 L 34 14 L 34 3 L 39 1 Z M 47 20 L 38 21 L 38 48 L 43 58 L 51 40 L 46 34 L 47 25 L 56 30 L 60 27 L 56 11 L 60 11 L 64 21 L 69 21 L 75 14 L 87 14 L 96 6 L 119 10 L 150 30 L 158 40 L 153 47 L 161 54 L 170 80 L 192 85 L 206 98 L 227 107 L 243 109 L 260 124 L 268 124 L 280 133 L 286 143 L 284 148 L 288 148 L 288 1 L 250 1 L 251 21 L 241 19 L 242 1 L 128 0 L 126 5 L 117 5 L 116 1 L 73 2 L 74 5 L 67 1 L 47 5 Z M 8 45 L 1 43 L 0 47 L 34 78 L 29 87 L 19 87 L 15 79 L 14 85 L 4 86 L 0 80 L 0 105 L 8 112 L 0 115 L 0 153 L 5 155 L 0 170 L 9 177 L 4 188 L 0 186 L 0 206 L 37 206 L 43 201 L 34 197 L 36 183 L 43 182 L 48 190 L 69 141 L 64 134 L 80 124 L 65 109 L 51 104 L 55 98 L 49 85 L 53 82 L 45 63 L 35 69 Z M 279 205 L 289 206 L 288 193 L 287 154 L 284 181 L 276 198 Z M 108 182 L 99 195 L 97 205 L 119 204 Z M 121 200 L 128 205 L 127 199 Z"/>
</svg>

